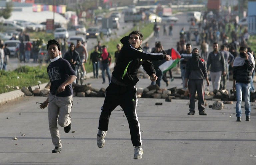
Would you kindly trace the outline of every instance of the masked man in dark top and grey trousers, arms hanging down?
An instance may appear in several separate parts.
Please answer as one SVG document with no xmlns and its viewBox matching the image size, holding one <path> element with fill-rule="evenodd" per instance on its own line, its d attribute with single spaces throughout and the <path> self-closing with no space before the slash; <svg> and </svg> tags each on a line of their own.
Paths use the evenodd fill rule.
<svg viewBox="0 0 256 165">
<path fill-rule="evenodd" d="M 188 87 L 190 100 L 188 115 L 195 114 L 195 95 L 198 96 L 199 115 L 206 115 L 204 107 L 204 78 L 209 86 L 208 74 L 204 59 L 199 58 L 199 50 L 194 48 L 192 58 L 186 64 L 185 88 Z"/>
</svg>

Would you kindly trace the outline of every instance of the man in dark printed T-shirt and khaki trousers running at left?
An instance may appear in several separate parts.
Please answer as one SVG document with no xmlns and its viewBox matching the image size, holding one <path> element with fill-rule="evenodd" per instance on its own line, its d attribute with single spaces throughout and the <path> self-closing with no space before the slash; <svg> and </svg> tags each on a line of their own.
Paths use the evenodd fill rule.
<svg viewBox="0 0 256 165">
<path fill-rule="evenodd" d="M 70 131 L 70 112 L 73 104 L 71 83 L 76 80 L 76 75 L 70 63 L 60 58 L 60 44 L 56 40 L 48 41 L 47 50 L 51 61 L 47 67 L 51 87 L 48 98 L 40 105 L 40 108 L 44 109 L 48 106 L 49 129 L 52 143 L 55 146 L 52 153 L 60 153 L 62 143 L 57 123 L 64 127 L 66 133 Z"/>
</svg>

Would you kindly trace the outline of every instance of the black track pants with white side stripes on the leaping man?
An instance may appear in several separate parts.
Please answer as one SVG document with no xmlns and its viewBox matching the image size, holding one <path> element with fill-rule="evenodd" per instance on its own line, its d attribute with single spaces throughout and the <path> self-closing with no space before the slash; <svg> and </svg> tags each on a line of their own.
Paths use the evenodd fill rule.
<svg viewBox="0 0 256 165">
<path fill-rule="evenodd" d="M 98 129 L 102 131 L 108 130 L 110 114 L 120 105 L 129 123 L 133 146 L 141 146 L 140 123 L 136 113 L 137 103 L 136 88 L 134 86 L 120 86 L 111 82 L 106 89 Z"/>
</svg>

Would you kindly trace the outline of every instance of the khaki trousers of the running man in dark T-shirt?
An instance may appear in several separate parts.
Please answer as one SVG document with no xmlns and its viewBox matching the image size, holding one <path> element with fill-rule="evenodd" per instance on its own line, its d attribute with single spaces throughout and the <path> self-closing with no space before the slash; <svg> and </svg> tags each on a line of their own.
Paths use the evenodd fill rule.
<svg viewBox="0 0 256 165">
<path fill-rule="evenodd" d="M 48 104 L 49 129 L 52 137 L 52 143 L 55 147 L 62 146 L 57 122 L 61 127 L 68 126 L 71 123 L 70 112 L 72 106 L 72 95 L 67 97 L 58 97 L 50 94 Z"/>
</svg>

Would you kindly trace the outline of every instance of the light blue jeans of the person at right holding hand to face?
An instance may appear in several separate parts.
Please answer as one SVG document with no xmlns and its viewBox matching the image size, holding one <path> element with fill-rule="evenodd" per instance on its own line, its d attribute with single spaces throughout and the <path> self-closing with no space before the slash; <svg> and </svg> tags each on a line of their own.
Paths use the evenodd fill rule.
<svg viewBox="0 0 256 165">
<path fill-rule="evenodd" d="M 250 83 L 236 83 L 236 117 L 242 116 L 242 95 L 244 95 L 245 115 L 250 116 L 251 102 L 250 102 Z"/>
</svg>

